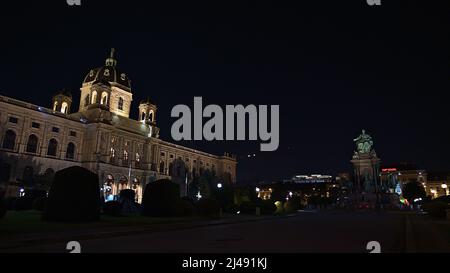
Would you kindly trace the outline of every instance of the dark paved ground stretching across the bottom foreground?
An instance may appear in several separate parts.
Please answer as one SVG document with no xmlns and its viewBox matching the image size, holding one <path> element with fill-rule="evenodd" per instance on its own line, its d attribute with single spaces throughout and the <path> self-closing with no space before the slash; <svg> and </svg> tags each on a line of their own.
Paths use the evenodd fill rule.
<svg viewBox="0 0 450 273">
<path fill-rule="evenodd" d="M 284 253 L 450 252 L 449 222 L 424 216 L 375 212 L 302 212 L 255 222 L 211 225 L 145 234 L 79 240 L 82 252 Z M 68 252 L 55 242 L 2 252 Z"/>
</svg>

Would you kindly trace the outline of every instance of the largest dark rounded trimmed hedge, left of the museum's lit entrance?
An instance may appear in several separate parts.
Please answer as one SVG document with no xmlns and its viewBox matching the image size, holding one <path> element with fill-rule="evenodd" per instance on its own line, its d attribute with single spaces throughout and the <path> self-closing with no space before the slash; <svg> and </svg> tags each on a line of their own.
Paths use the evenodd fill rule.
<svg viewBox="0 0 450 273">
<path fill-rule="evenodd" d="M 55 173 L 45 221 L 89 222 L 100 219 L 100 188 L 97 174 L 78 166 Z"/>
</svg>

